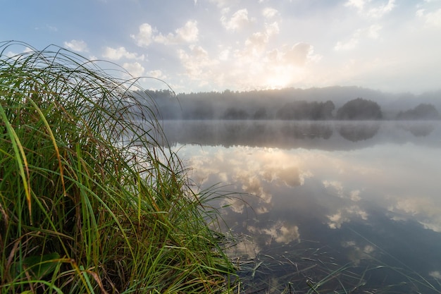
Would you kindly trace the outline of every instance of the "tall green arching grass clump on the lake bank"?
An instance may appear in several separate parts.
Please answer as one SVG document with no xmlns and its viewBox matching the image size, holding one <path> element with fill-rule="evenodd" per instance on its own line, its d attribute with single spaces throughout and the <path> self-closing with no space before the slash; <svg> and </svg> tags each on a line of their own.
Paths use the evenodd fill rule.
<svg viewBox="0 0 441 294">
<path fill-rule="evenodd" d="M 218 215 L 136 80 L 16 46 L 0 43 L 0 292 L 226 291 Z"/>
</svg>

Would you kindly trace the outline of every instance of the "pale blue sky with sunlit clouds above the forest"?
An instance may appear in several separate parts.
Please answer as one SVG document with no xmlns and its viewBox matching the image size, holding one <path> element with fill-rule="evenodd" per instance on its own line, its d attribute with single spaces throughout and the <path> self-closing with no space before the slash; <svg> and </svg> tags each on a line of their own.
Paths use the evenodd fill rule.
<svg viewBox="0 0 441 294">
<path fill-rule="evenodd" d="M 163 80 L 176 93 L 336 85 L 414 94 L 441 89 L 441 0 L 0 4 L 0 41 L 39 50 L 54 44 L 116 63 L 135 77 Z M 140 80 L 142 87 L 166 88 L 151 78 Z"/>
</svg>

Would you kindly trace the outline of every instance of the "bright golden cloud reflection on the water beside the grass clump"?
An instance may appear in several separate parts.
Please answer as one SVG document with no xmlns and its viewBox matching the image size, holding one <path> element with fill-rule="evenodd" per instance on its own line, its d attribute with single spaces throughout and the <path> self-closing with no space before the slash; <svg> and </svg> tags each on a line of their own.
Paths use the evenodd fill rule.
<svg viewBox="0 0 441 294">
<path fill-rule="evenodd" d="M 312 176 L 311 171 L 304 169 L 304 159 L 280 149 L 186 146 L 180 152 L 191 153 L 184 157 L 192 166 L 192 178 L 198 185 L 223 183 L 237 192 L 255 195 L 247 201 L 258 214 L 271 209 L 274 187 L 294 188 Z M 245 204 L 236 199 L 226 199 L 223 204 L 235 213 L 245 209 Z"/>
</svg>

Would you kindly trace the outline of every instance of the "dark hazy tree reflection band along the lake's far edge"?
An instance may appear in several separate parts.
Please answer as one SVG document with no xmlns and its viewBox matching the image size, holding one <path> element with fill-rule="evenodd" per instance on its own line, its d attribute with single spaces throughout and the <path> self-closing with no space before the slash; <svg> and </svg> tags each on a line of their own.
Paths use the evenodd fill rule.
<svg viewBox="0 0 441 294">
<path fill-rule="evenodd" d="M 164 130 L 171 145 L 179 143 L 224 147 L 246 145 L 249 147 L 318 149 L 366 147 L 377 144 L 379 141 L 423 142 L 423 138 L 432 140 L 433 133 L 441 131 L 440 127 L 440 123 L 435 121 L 164 122 Z M 335 136 L 335 133 L 340 135 Z M 353 144 L 348 144 L 348 141 Z"/>
</svg>

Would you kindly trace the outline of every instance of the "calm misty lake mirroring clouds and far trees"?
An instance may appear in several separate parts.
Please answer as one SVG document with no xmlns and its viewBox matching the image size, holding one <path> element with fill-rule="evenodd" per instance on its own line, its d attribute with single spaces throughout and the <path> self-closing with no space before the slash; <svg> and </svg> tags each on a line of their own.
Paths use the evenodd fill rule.
<svg viewBox="0 0 441 294">
<path fill-rule="evenodd" d="M 244 293 L 439 293 L 439 121 L 163 121 Z"/>
</svg>

